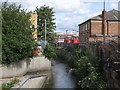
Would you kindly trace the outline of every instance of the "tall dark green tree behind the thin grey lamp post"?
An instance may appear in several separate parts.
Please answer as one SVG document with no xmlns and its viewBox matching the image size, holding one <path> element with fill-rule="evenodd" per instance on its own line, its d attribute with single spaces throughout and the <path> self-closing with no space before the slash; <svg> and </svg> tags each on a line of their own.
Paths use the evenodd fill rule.
<svg viewBox="0 0 120 90">
<path fill-rule="evenodd" d="M 55 18 L 53 8 L 49 6 L 41 6 L 40 8 L 36 7 L 36 13 L 38 15 L 38 37 L 40 40 L 45 40 L 45 20 L 46 20 L 46 39 L 48 43 L 54 42 L 54 30 L 55 26 Z"/>
</svg>

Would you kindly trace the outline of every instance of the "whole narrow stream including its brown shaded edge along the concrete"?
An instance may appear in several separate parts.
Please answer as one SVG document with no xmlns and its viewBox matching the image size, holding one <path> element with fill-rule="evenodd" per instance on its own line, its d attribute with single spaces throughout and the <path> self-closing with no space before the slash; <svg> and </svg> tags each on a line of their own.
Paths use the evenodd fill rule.
<svg viewBox="0 0 120 90">
<path fill-rule="evenodd" d="M 52 60 L 51 62 L 52 70 L 40 72 L 38 71 L 34 73 L 31 72 L 27 73 L 26 75 L 47 74 L 49 79 L 44 88 L 53 88 L 53 90 L 59 90 L 58 88 L 71 88 L 73 90 L 74 88 L 76 88 L 75 80 L 69 72 L 69 67 L 58 60 Z"/>
</svg>

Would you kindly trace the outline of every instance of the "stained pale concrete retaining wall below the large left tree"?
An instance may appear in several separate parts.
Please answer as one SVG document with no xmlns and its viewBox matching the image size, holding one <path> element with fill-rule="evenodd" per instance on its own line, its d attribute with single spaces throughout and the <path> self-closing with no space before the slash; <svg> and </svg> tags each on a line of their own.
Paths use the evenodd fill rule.
<svg viewBox="0 0 120 90">
<path fill-rule="evenodd" d="M 44 56 L 21 60 L 8 66 L 0 65 L 0 78 L 23 76 L 27 72 L 50 70 L 51 61 Z"/>
</svg>

